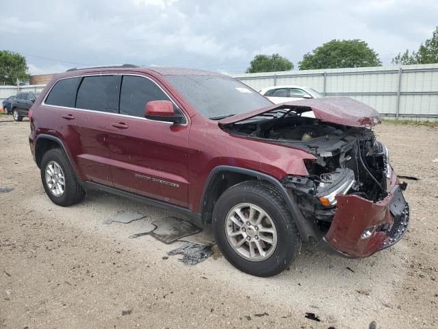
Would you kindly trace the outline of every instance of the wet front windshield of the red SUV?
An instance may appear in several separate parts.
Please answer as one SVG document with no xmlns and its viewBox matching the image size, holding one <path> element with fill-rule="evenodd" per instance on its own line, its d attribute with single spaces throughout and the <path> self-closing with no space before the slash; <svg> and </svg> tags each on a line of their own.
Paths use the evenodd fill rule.
<svg viewBox="0 0 438 329">
<path fill-rule="evenodd" d="M 166 80 L 208 119 L 271 106 L 265 97 L 224 75 L 168 75 Z"/>
</svg>

